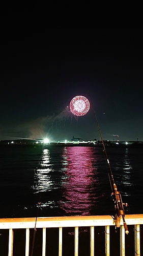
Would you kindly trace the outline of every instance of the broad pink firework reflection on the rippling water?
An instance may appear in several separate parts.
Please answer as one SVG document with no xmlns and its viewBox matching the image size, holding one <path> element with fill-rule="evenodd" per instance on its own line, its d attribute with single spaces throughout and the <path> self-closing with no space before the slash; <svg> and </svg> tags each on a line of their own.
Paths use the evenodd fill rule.
<svg viewBox="0 0 143 256">
<path fill-rule="evenodd" d="M 62 184 L 61 208 L 66 214 L 91 215 L 99 199 L 96 154 L 93 147 L 65 147 L 63 152 L 65 179 Z"/>
</svg>

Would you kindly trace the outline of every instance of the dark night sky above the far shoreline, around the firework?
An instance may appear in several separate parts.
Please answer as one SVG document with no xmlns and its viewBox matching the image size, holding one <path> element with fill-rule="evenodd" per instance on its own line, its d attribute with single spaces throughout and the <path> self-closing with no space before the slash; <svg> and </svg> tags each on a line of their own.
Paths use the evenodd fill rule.
<svg viewBox="0 0 143 256">
<path fill-rule="evenodd" d="M 92 108 L 79 118 L 67 108 L 84 95 L 103 139 L 143 141 L 139 4 L 24 1 L 1 19 L 0 140 L 99 139 Z"/>
</svg>

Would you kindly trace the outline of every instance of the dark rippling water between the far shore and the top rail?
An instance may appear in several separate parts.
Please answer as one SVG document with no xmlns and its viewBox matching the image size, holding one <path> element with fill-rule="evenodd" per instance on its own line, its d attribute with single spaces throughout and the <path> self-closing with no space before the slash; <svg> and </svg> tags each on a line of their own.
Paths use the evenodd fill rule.
<svg viewBox="0 0 143 256">
<path fill-rule="evenodd" d="M 106 151 L 126 214 L 142 214 L 143 148 Z M 102 147 L 6 145 L 0 152 L 0 218 L 115 214 Z"/>
</svg>

